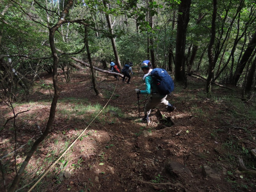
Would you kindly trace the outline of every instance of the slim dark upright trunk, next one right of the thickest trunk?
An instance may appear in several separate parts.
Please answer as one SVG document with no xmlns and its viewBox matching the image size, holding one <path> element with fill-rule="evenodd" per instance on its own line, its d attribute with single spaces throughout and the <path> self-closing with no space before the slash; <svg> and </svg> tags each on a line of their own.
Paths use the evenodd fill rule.
<svg viewBox="0 0 256 192">
<path fill-rule="evenodd" d="M 211 93 L 211 83 L 214 75 L 215 62 L 212 53 L 212 48 L 215 39 L 215 21 L 217 15 L 217 0 L 213 0 L 213 12 L 212 12 L 212 29 L 211 29 L 211 39 L 208 47 L 208 58 L 209 58 L 209 68 L 208 68 L 208 77 L 206 81 L 206 92 Z"/>
</svg>

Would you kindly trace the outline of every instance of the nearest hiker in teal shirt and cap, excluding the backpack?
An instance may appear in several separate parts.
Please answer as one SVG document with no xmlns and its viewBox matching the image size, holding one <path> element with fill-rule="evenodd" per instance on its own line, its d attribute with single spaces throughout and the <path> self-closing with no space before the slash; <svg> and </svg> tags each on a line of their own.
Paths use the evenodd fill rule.
<svg viewBox="0 0 256 192">
<path fill-rule="evenodd" d="M 143 77 L 143 81 L 145 81 L 146 84 L 146 90 L 139 90 L 135 89 L 135 92 L 137 94 L 150 94 L 151 97 L 146 101 L 145 107 L 144 107 L 144 117 L 140 119 L 140 122 L 142 123 L 150 123 L 150 120 L 148 118 L 148 115 L 150 114 L 150 111 L 152 108 L 156 107 L 159 103 L 162 103 L 166 106 L 167 110 L 174 111 L 176 107 L 174 107 L 172 104 L 170 104 L 166 97 L 167 95 L 161 95 L 158 93 L 157 90 L 157 82 L 156 80 L 151 76 L 152 68 L 151 66 L 148 66 L 147 63 L 142 62 L 140 65 L 140 71 L 143 71 L 145 74 Z"/>
</svg>

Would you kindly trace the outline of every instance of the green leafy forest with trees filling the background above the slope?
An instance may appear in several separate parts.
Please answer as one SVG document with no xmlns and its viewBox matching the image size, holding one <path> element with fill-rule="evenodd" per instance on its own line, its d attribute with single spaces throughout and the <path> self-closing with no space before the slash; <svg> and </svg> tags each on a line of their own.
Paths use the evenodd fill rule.
<svg viewBox="0 0 256 192">
<path fill-rule="evenodd" d="M 68 2 L 2 1 L 0 78 L 5 96 L 17 96 L 21 89 L 28 94 L 42 71 L 52 73 L 49 32 Z M 185 87 L 186 75 L 192 73 L 207 78 L 207 84 L 243 86 L 245 92 L 255 87 L 253 0 L 216 1 L 215 9 L 215 1 L 202 0 L 71 2 L 54 34 L 54 46 L 62 51 L 57 52 L 58 68 L 64 73 L 76 63 L 71 54 L 89 62 L 87 40 L 98 68 L 108 68 L 111 61 L 120 68 L 129 61 L 138 67 L 148 59 L 154 68 L 174 72 Z"/>
</svg>

